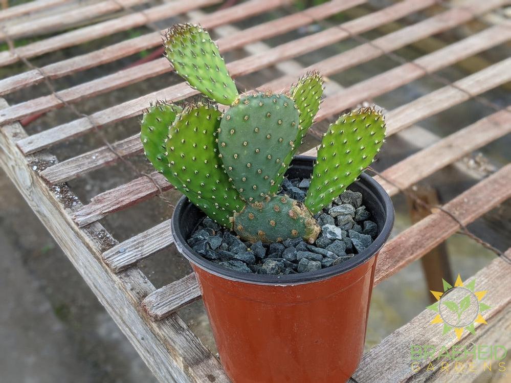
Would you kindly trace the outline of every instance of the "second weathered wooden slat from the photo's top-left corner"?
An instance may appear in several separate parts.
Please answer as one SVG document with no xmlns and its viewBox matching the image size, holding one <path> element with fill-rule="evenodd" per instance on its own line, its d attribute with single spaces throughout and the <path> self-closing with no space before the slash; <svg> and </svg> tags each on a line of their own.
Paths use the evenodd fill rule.
<svg viewBox="0 0 511 383">
<path fill-rule="evenodd" d="M 16 39 L 22 36 L 52 32 L 72 26 L 80 21 L 86 21 L 108 13 L 122 11 L 124 7 L 133 7 L 147 3 L 149 0 L 106 0 L 100 3 L 87 4 L 77 9 L 42 17 L 36 20 L 28 20 L 20 24 L 5 26 L 0 30 L 0 40 L 6 36 Z"/>
</svg>

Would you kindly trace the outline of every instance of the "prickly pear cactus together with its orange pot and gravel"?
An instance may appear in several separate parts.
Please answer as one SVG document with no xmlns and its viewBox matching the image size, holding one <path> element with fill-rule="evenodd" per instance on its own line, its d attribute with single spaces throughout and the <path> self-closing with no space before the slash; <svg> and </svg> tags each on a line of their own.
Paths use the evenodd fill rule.
<svg viewBox="0 0 511 383">
<path fill-rule="evenodd" d="M 286 93 L 240 95 L 200 26 L 173 26 L 164 45 L 205 101 L 152 105 L 141 140 L 184 194 L 174 240 L 195 271 L 229 377 L 348 379 L 362 355 L 376 255 L 393 224 L 390 198 L 361 174 L 384 141 L 384 117 L 352 111 L 329 126 L 317 159 L 295 156 L 320 106 L 319 73 Z"/>
</svg>

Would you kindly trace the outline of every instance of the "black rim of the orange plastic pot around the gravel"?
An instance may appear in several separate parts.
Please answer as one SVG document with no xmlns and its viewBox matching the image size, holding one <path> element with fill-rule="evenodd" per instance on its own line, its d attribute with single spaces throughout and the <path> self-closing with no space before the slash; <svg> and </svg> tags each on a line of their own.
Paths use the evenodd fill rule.
<svg viewBox="0 0 511 383">
<path fill-rule="evenodd" d="M 301 162 L 312 162 L 316 159 L 316 157 L 311 156 L 295 156 L 294 161 L 298 160 Z M 171 220 L 171 231 L 172 236 L 174 238 L 175 246 L 177 250 L 183 254 L 183 256 L 188 259 L 191 263 L 195 264 L 197 267 L 200 267 L 204 271 L 214 274 L 218 277 L 229 279 L 236 282 L 245 282 L 250 284 L 260 284 L 260 285 L 297 285 L 302 283 L 310 283 L 317 282 L 320 280 L 329 279 L 340 274 L 347 273 L 352 269 L 362 265 L 363 263 L 369 261 L 373 258 L 383 247 L 385 242 L 390 236 L 392 231 L 392 227 L 394 225 L 394 207 L 392 205 L 392 200 L 390 196 L 387 194 L 385 189 L 377 183 L 370 175 L 362 173 L 360 175 L 360 181 L 362 182 L 374 195 L 377 200 L 383 205 L 383 210 L 385 212 L 385 223 L 378 234 L 378 236 L 374 239 L 374 241 L 364 249 L 362 253 L 357 254 L 356 257 L 353 257 L 350 260 L 342 262 L 341 264 L 330 266 L 326 268 L 322 268 L 321 270 L 307 273 L 298 273 L 298 274 L 288 274 L 288 275 L 265 275 L 265 274 L 252 274 L 252 273 L 241 273 L 234 271 L 232 269 L 218 266 L 213 262 L 208 261 L 203 256 L 196 253 L 186 242 L 186 239 L 183 236 L 179 228 L 179 217 L 182 215 L 183 209 L 191 204 L 188 201 L 188 198 L 183 195 L 180 200 L 177 202 L 174 213 L 172 214 Z"/>
</svg>

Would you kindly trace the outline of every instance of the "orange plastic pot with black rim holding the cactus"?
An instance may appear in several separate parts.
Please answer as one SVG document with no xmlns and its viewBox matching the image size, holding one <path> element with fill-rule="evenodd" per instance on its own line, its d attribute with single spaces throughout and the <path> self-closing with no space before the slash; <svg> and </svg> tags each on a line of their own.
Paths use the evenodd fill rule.
<svg viewBox="0 0 511 383">
<path fill-rule="evenodd" d="M 314 159 L 299 156 L 290 178 L 309 177 Z M 350 186 L 379 235 L 362 253 L 320 271 L 282 276 L 235 272 L 195 253 L 185 238 L 204 214 L 182 198 L 172 219 L 177 248 L 202 290 L 220 360 L 235 383 L 346 381 L 364 348 L 376 256 L 394 222 L 390 197 L 370 176 Z"/>
</svg>

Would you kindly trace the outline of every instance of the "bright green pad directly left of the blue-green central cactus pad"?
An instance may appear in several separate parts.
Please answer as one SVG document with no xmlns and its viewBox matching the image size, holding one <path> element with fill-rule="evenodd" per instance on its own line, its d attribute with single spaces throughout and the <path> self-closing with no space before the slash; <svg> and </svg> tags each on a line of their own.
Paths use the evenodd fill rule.
<svg viewBox="0 0 511 383">
<path fill-rule="evenodd" d="M 245 202 L 239 198 L 222 169 L 216 147 L 221 113 L 213 106 L 196 104 L 177 115 L 166 141 L 167 160 L 174 186 L 210 218 L 231 227 L 230 217 Z"/>
</svg>

